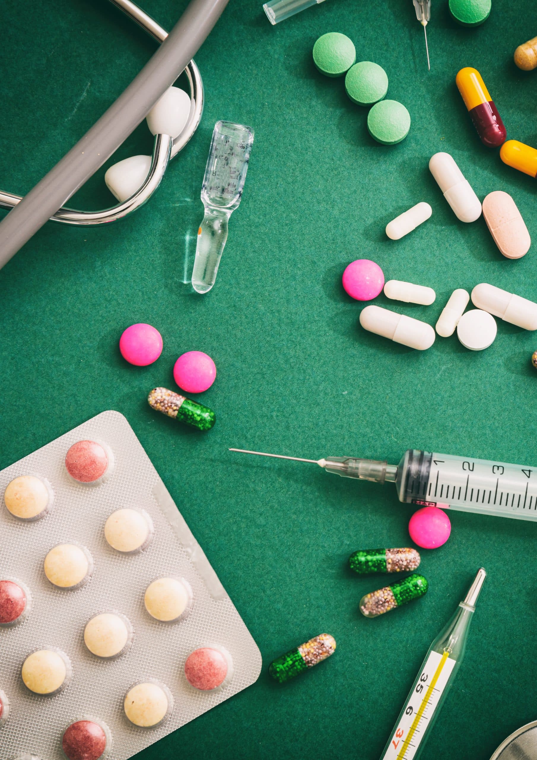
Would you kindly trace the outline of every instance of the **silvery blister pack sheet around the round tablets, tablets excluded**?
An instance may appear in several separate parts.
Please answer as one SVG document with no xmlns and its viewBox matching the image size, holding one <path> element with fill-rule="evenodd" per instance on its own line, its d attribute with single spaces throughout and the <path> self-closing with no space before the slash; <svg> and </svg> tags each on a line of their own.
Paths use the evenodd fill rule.
<svg viewBox="0 0 537 760">
<path fill-rule="evenodd" d="M 113 477 L 86 488 L 65 475 L 65 453 L 81 440 L 103 441 L 115 457 Z M 9 697 L 9 719 L 0 729 L 2 758 L 34 752 L 43 760 L 65 760 L 62 736 L 81 714 L 109 726 L 110 758 L 127 760 L 189 720 L 253 683 L 261 654 L 226 594 L 203 550 L 134 432 L 121 414 L 102 414 L 0 471 L 0 494 L 15 477 L 36 472 L 55 490 L 55 507 L 46 520 L 14 520 L 0 509 L 2 576 L 20 578 L 30 588 L 33 606 L 24 625 L 0 630 L 0 683 Z M 120 507 L 147 512 L 153 540 L 144 552 L 124 554 L 106 542 L 104 525 Z M 66 593 L 43 572 L 53 546 L 76 543 L 93 556 L 91 581 Z M 153 619 L 144 594 L 158 578 L 184 579 L 193 604 L 178 625 Z M 96 657 L 84 644 L 84 627 L 103 610 L 119 610 L 134 629 L 128 653 L 112 661 Z M 185 661 L 195 649 L 225 648 L 232 657 L 232 679 L 223 688 L 198 691 L 187 682 Z M 72 663 L 72 677 L 47 703 L 24 686 L 21 665 L 38 648 L 59 648 Z M 167 719 L 144 730 L 125 717 L 125 694 L 137 682 L 166 684 L 173 698 Z M 28 726 L 32 727 L 31 740 Z"/>
</svg>

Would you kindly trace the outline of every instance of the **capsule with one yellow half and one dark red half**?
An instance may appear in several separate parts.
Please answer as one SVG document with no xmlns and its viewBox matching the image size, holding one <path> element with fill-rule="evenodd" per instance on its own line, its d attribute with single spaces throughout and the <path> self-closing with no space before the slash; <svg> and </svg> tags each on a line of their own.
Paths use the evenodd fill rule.
<svg viewBox="0 0 537 760">
<path fill-rule="evenodd" d="M 482 143 L 487 147 L 500 147 L 507 138 L 507 131 L 479 71 L 471 66 L 461 68 L 455 82 Z"/>
</svg>

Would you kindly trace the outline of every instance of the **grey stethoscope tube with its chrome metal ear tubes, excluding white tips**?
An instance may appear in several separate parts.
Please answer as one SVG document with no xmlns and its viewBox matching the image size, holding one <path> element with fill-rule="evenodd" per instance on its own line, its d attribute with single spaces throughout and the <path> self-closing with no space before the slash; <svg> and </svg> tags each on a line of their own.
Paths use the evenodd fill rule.
<svg viewBox="0 0 537 760">
<path fill-rule="evenodd" d="M 145 24 L 141 21 L 144 17 L 143 11 L 136 8 L 134 3 L 125 2 L 125 0 L 113 0 L 113 2 L 127 14 L 134 17 L 137 23 L 145 27 Z M 118 100 L 112 103 L 112 106 L 87 131 L 86 135 L 65 154 L 54 168 L 22 199 L 8 193 L 2 193 L 2 205 L 6 206 L 7 204 L 7 207 L 12 205 L 12 209 L 7 217 L 2 220 L 2 223 L 0 223 L 0 268 L 10 260 L 50 217 L 55 216 L 58 221 L 61 220 L 75 224 L 94 224 L 106 220 L 106 218 L 103 218 L 100 220 L 84 221 L 80 217 L 67 219 L 61 218 L 61 215 L 58 216 L 57 212 L 68 198 L 71 198 L 71 195 L 74 195 L 74 192 L 81 185 L 84 185 L 84 182 L 117 150 L 125 138 L 131 134 L 131 131 L 147 116 L 147 113 L 156 101 L 160 99 L 164 91 L 173 84 L 178 74 L 188 66 L 191 58 L 200 48 L 210 30 L 216 24 L 216 21 L 218 21 L 227 2 L 228 0 L 191 0 L 185 13 L 175 24 L 169 35 L 165 36 L 166 33 L 162 30 L 165 36 L 162 45 L 141 72 L 137 74 L 137 77 L 134 78 L 122 95 L 118 97 Z M 135 14 L 131 13 L 134 9 L 136 9 Z M 147 17 L 147 19 L 148 31 L 158 38 L 160 36 L 158 32 L 160 27 L 150 17 Z M 199 75 L 199 72 L 197 74 Z M 199 85 L 200 87 L 197 88 L 197 92 L 199 92 L 200 98 L 197 100 L 197 107 L 191 109 L 191 115 L 189 116 L 185 130 L 181 135 L 178 135 L 177 150 L 174 152 L 174 148 L 170 146 L 170 156 L 175 155 L 188 142 L 191 135 L 182 143 L 184 133 L 191 129 L 191 134 L 194 134 L 197 123 L 199 123 L 201 110 L 203 109 L 201 78 L 199 79 Z M 195 123 L 196 118 L 197 123 Z M 163 146 L 161 150 L 167 153 L 164 149 L 164 138 L 168 141 L 171 138 L 168 138 L 166 135 L 157 135 L 157 140 L 158 138 L 161 138 Z M 158 156 L 158 161 L 156 159 L 155 151 L 153 153 L 152 169 L 155 163 L 159 163 L 160 167 L 163 163 L 167 164 L 167 155 L 166 161 L 163 160 L 162 154 Z M 162 174 L 165 169 L 166 165 L 163 166 Z M 156 189 L 160 179 L 162 179 L 162 174 L 157 176 L 155 170 L 153 171 L 153 177 L 150 179 L 150 171 L 150 176 L 148 176 L 146 182 L 140 188 L 140 197 L 137 198 L 137 194 L 135 194 L 128 201 L 125 201 L 126 204 L 129 204 L 129 207 L 128 210 L 124 209 L 122 214 L 117 214 L 117 207 L 115 207 L 116 212 L 112 214 L 112 217 L 119 218 L 120 216 L 125 216 L 126 213 L 134 211 L 134 208 L 139 207 L 145 202 L 150 194 L 144 198 L 142 198 L 142 195 L 147 193 L 149 188 L 153 188 L 151 192 Z M 133 198 L 137 198 L 139 202 L 133 203 Z M 114 209 L 107 211 L 114 211 Z M 99 213 L 106 215 L 107 212 Z M 69 216 L 70 214 L 74 214 L 74 212 L 62 209 L 62 214 Z"/>
</svg>

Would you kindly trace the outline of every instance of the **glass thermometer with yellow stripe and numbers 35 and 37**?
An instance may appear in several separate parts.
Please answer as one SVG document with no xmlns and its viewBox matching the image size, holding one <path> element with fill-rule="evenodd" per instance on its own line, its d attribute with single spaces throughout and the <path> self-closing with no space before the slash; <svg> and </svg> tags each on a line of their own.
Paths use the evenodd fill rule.
<svg viewBox="0 0 537 760">
<path fill-rule="evenodd" d="M 434 639 L 410 689 L 381 760 L 417 760 L 463 661 L 475 602 L 487 574 L 479 568 L 463 602 Z"/>
</svg>

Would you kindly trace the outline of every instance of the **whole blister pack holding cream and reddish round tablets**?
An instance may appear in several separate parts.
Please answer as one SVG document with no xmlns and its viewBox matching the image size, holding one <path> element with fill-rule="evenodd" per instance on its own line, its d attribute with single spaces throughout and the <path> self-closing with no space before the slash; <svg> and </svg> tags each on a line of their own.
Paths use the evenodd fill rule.
<svg viewBox="0 0 537 760">
<path fill-rule="evenodd" d="M 254 639 L 122 414 L 6 467 L 0 495 L 2 760 L 84 741 L 126 760 L 257 679 Z"/>
</svg>

